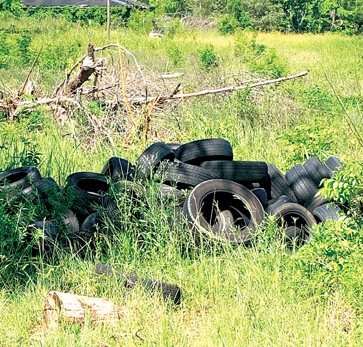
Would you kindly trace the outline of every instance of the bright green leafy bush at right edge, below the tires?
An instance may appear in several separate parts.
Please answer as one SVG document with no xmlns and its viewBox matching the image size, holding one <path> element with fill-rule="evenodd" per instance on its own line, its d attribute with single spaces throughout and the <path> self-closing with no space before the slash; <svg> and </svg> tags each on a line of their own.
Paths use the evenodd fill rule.
<svg viewBox="0 0 363 347">
<path fill-rule="evenodd" d="M 313 241 L 294 255 L 300 295 L 326 295 L 344 289 L 353 302 L 362 301 L 363 234 L 349 219 L 318 224 Z M 304 293 L 305 291 L 305 293 Z"/>
</svg>

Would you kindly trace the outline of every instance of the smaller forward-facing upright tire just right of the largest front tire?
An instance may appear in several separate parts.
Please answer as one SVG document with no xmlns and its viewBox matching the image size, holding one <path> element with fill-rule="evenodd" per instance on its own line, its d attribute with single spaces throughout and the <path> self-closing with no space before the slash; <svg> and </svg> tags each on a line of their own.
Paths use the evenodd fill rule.
<svg viewBox="0 0 363 347">
<path fill-rule="evenodd" d="M 276 215 L 277 224 L 284 226 L 285 229 L 289 226 L 295 226 L 303 230 L 305 240 L 302 240 L 302 244 L 310 239 L 310 229 L 316 221 L 305 207 L 295 203 L 286 203 L 270 211 L 270 213 Z"/>
</svg>

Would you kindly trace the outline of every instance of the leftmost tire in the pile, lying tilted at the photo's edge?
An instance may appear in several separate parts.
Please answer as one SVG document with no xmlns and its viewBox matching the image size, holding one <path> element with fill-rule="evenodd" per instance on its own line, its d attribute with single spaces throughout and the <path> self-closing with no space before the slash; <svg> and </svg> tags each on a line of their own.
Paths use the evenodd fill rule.
<svg viewBox="0 0 363 347">
<path fill-rule="evenodd" d="M 41 180 L 39 170 L 35 166 L 22 166 L 0 174 L 0 190 L 12 194 L 23 190 Z"/>
</svg>

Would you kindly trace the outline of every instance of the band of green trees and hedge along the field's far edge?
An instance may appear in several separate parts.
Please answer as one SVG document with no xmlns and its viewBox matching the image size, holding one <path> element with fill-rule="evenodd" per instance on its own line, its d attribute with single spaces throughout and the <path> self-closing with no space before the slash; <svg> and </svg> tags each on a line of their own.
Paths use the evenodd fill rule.
<svg viewBox="0 0 363 347">
<path fill-rule="evenodd" d="M 201 16 L 216 20 L 222 33 L 236 28 L 254 28 L 261 31 L 312 32 L 326 31 L 359 34 L 363 32 L 363 0 L 143 0 L 148 10 L 113 8 L 119 25 L 127 21 L 157 18 L 163 15 L 183 17 Z M 24 15 L 20 0 L 0 0 L 0 14 Z M 25 9 L 28 16 L 60 15 L 66 13 L 72 21 L 94 19 L 105 24 L 104 8 L 33 7 Z M 121 18 L 122 17 L 122 18 Z M 121 19 L 121 20 L 120 20 Z M 131 21 L 132 22 L 132 21 Z M 130 23 L 131 23 L 130 22 Z M 142 23 L 140 23 L 142 24 Z"/>
</svg>

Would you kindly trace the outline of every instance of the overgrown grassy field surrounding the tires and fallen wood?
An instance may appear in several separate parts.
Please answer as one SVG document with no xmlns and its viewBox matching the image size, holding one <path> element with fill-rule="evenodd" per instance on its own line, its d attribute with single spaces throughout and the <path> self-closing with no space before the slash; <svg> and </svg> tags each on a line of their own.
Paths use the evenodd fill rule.
<svg viewBox="0 0 363 347">
<path fill-rule="evenodd" d="M 95 47 L 107 44 L 104 28 L 62 20 L 11 19 L 0 27 L 7 33 L 0 38 L 5 99 L 17 93 L 41 46 L 31 74 L 37 90 L 23 100 L 52 94 L 90 41 Z M 292 255 L 283 251 L 273 217 L 252 245 L 196 247 L 183 223 L 170 224 L 175 209 L 158 202 L 155 177 L 145 187 L 149 207 L 142 219 L 132 219 L 121 199 L 121 227 L 98 230 L 95 248 L 82 255 L 57 249 L 45 261 L 36 250 L 37 238 L 24 240 L 28 222 L 38 220 L 41 208 L 22 203 L 9 211 L 0 204 L 0 346 L 361 346 L 362 38 L 251 31 L 220 36 L 181 24 L 163 38 L 129 29 L 111 32 L 110 41 L 117 37 L 141 66 L 149 96 L 172 93 L 178 83 L 188 93 L 310 71 L 284 83 L 156 106 L 147 136 L 140 129 L 150 106 L 134 107 L 140 128 L 129 143 L 130 113 L 112 103 L 122 94 L 107 90 L 93 97 L 78 94 L 79 106 L 61 118 L 55 107 L 30 103 L 8 121 L 0 109 L 0 171 L 36 165 L 43 177 L 64 185 L 73 172 L 101 172 L 111 156 L 134 163 L 155 140 L 224 138 L 234 159 L 262 160 L 282 171 L 313 155 L 338 156 L 345 171 L 326 181 L 324 191 L 347 206 L 347 217 L 317 226 L 310 244 Z M 97 54 L 108 61 L 98 80 L 105 86 L 118 76 L 118 51 L 111 47 Z M 145 96 L 134 59 L 124 53 L 123 63 L 128 96 Z M 163 80 L 164 73 L 180 75 Z M 104 132 L 90 119 L 98 119 Z M 180 307 L 142 288 L 126 293 L 117 278 L 99 281 L 93 276 L 96 262 L 177 284 L 183 290 Z M 119 322 L 61 322 L 45 332 L 43 303 L 50 290 L 110 299 L 119 306 Z"/>
</svg>

